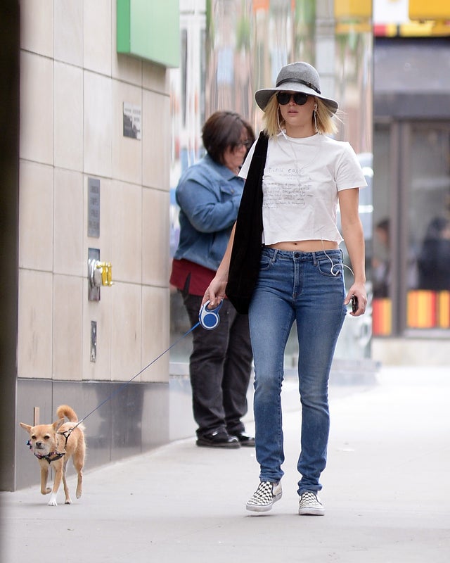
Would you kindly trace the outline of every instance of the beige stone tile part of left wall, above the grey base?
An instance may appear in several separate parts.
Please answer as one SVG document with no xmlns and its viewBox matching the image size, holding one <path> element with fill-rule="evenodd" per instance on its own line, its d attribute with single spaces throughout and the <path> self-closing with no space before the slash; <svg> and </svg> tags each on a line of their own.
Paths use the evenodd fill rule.
<svg viewBox="0 0 450 563">
<path fill-rule="evenodd" d="M 127 381 L 169 346 L 169 83 L 117 55 L 115 5 L 20 2 L 19 377 Z M 124 102 L 141 106 L 141 140 L 122 135 Z M 88 177 L 101 184 L 98 239 Z M 88 248 L 113 264 L 99 302 Z M 135 381 L 167 381 L 168 365 Z"/>
</svg>

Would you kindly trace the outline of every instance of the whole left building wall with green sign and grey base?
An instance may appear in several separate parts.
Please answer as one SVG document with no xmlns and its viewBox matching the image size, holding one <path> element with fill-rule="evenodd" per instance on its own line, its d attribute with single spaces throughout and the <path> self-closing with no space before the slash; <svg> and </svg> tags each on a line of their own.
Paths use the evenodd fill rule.
<svg viewBox="0 0 450 563">
<path fill-rule="evenodd" d="M 167 69 L 179 64 L 172 0 L 9 8 L 20 125 L 6 489 L 36 476 L 18 422 L 52 422 L 61 403 L 86 417 L 90 467 L 169 441 L 169 358 L 149 364 L 169 341 Z"/>
</svg>

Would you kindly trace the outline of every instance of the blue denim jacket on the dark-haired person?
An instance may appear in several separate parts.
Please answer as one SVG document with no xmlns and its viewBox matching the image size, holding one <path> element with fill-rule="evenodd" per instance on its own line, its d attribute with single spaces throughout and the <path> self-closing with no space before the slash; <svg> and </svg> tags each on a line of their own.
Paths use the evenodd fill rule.
<svg viewBox="0 0 450 563">
<path fill-rule="evenodd" d="M 217 270 L 238 217 L 244 180 L 205 155 L 176 187 L 180 238 L 174 258 Z"/>
</svg>

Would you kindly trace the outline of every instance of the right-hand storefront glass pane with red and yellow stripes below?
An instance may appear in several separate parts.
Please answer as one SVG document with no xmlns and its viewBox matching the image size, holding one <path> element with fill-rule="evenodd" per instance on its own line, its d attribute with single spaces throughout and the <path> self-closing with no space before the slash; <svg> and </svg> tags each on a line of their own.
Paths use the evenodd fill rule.
<svg viewBox="0 0 450 563">
<path fill-rule="evenodd" d="M 406 327 L 450 328 L 450 127 L 413 125 Z"/>
</svg>

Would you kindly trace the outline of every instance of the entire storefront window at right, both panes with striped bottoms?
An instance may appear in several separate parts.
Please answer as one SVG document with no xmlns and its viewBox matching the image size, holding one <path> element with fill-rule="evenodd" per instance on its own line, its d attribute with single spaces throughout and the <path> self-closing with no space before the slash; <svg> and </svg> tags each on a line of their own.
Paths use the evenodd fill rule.
<svg viewBox="0 0 450 563">
<path fill-rule="evenodd" d="M 373 334 L 450 329 L 450 123 L 375 124 Z"/>
</svg>

